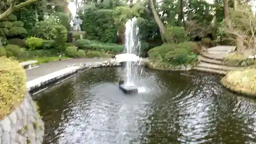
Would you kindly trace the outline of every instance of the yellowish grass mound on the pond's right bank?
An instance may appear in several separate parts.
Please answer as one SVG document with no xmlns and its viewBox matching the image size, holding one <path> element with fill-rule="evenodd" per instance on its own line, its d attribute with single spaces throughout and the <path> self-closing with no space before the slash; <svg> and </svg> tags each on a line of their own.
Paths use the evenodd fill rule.
<svg viewBox="0 0 256 144">
<path fill-rule="evenodd" d="M 226 75 L 226 81 L 246 91 L 256 92 L 256 68 L 231 71 Z"/>
</svg>

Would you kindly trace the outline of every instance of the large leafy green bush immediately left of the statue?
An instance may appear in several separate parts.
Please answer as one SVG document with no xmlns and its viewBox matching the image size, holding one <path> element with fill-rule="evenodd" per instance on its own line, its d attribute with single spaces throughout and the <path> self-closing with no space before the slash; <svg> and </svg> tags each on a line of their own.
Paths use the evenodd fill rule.
<svg viewBox="0 0 256 144">
<path fill-rule="evenodd" d="M 55 47 L 59 52 L 65 50 L 65 42 L 68 37 L 67 28 L 58 24 L 54 18 L 39 21 L 33 28 L 34 36 L 46 40 L 55 40 Z"/>
</svg>

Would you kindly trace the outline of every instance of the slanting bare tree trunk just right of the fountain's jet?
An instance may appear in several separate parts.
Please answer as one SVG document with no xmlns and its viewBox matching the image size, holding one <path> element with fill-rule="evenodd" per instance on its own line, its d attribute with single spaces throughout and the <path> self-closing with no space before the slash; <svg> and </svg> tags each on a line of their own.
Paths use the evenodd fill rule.
<svg viewBox="0 0 256 144">
<path fill-rule="evenodd" d="M 153 16 L 154 16 L 154 18 L 156 20 L 156 23 L 158 25 L 158 28 L 160 30 L 161 38 L 162 38 L 163 42 L 165 42 L 165 38 L 164 38 L 165 27 L 164 27 L 164 24 L 163 24 L 162 20 L 160 19 L 159 15 L 157 13 L 157 10 L 155 8 L 155 4 L 154 4 L 153 0 L 150 0 L 150 5 L 151 5 L 151 10 L 152 10 Z"/>
</svg>

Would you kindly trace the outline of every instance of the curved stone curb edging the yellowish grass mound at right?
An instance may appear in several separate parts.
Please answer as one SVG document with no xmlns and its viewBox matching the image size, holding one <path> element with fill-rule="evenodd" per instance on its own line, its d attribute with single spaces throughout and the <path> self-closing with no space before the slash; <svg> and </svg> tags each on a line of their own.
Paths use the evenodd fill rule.
<svg viewBox="0 0 256 144">
<path fill-rule="evenodd" d="M 244 96 L 247 96 L 247 97 L 252 97 L 252 98 L 255 98 L 256 97 L 256 93 L 255 92 L 251 92 L 251 91 L 245 91 L 245 90 L 242 90 L 241 88 L 239 87 L 236 87 L 232 84 L 230 84 L 227 80 L 226 80 L 226 76 L 224 76 L 222 79 L 221 79 L 221 84 L 223 85 L 223 87 L 225 87 L 226 89 L 228 89 L 229 91 L 233 92 L 233 93 L 236 93 L 236 94 L 241 94 L 241 95 L 244 95 Z"/>
</svg>

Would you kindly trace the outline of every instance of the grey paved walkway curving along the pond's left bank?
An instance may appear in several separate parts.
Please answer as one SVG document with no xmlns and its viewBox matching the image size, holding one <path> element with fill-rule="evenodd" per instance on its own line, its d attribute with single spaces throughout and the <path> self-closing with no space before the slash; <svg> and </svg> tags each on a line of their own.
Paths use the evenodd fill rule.
<svg viewBox="0 0 256 144">
<path fill-rule="evenodd" d="M 109 61 L 111 58 L 104 59 L 70 59 L 70 60 L 62 60 L 55 61 L 45 64 L 40 64 L 39 67 L 26 70 L 27 81 L 33 80 L 35 78 L 53 73 L 55 71 L 66 68 L 68 65 L 80 65 L 81 63 L 92 63 L 98 61 Z"/>
</svg>

